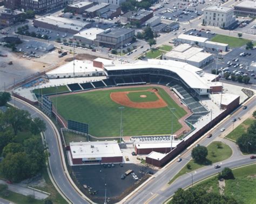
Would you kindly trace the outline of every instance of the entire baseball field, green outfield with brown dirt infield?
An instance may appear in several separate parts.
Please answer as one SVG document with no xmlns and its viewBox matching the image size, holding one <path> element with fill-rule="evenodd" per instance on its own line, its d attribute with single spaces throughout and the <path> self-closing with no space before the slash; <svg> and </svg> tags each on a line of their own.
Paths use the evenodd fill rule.
<svg viewBox="0 0 256 204">
<path fill-rule="evenodd" d="M 56 107 L 56 97 L 51 98 Z M 186 114 L 176 102 L 159 87 L 95 90 L 65 94 L 57 98 L 57 111 L 65 120 L 89 124 L 89 133 L 96 137 L 120 135 L 120 109 L 123 106 L 123 135 L 171 134 L 182 126 L 178 119 Z"/>
</svg>

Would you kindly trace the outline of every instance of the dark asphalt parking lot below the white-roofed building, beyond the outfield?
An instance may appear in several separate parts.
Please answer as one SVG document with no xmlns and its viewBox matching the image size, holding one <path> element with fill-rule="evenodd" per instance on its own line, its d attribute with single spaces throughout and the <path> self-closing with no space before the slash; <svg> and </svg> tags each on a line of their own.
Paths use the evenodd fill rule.
<svg viewBox="0 0 256 204">
<path fill-rule="evenodd" d="M 110 168 L 107 166 L 104 168 L 103 165 L 72 166 L 72 169 L 80 185 L 91 187 L 92 192 L 97 192 L 96 195 L 91 195 L 91 199 L 95 202 L 103 201 L 106 183 L 106 196 L 110 198 L 111 203 L 118 201 L 120 195 L 124 196 L 132 191 L 141 182 L 142 177 L 145 178 L 146 172 L 152 171 L 149 167 L 135 164 L 123 164 L 123 167 L 115 164 Z M 131 174 L 121 179 L 122 174 L 129 169 L 138 176 L 138 181 L 134 180 Z M 84 191 L 88 194 L 87 190 L 84 189 Z"/>
</svg>

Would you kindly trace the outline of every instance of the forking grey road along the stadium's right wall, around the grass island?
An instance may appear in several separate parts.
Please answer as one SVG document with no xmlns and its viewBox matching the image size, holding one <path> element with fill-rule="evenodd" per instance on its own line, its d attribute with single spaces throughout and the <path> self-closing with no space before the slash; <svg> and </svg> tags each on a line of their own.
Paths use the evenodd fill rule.
<svg viewBox="0 0 256 204">
<path fill-rule="evenodd" d="M 254 100 L 251 100 L 247 104 L 248 108 L 246 110 L 242 110 L 240 108 L 237 112 L 235 112 L 232 117 L 235 118 L 242 118 L 242 115 L 245 113 L 255 110 L 256 107 L 256 101 L 255 97 Z M 220 128 L 229 128 L 232 127 L 233 123 L 231 121 L 232 119 L 228 118 L 225 120 L 221 125 L 217 126 L 214 128 L 214 130 L 211 132 L 212 133 L 212 138 L 204 138 L 202 139 L 199 144 L 207 146 L 210 144 L 212 141 L 214 141 L 217 137 L 221 136 L 224 137 L 223 134 L 225 132 L 221 132 Z M 189 147 L 188 147 L 189 148 Z M 242 156 L 241 154 L 237 153 L 235 149 L 237 148 L 235 145 L 232 145 L 231 148 L 233 149 L 234 154 L 232 155 L 231 158 L 225 160 L 221 164 L 220 169 L 215 169 L 213 167 L 214 164 L 211 166 L 206 166 L 204 168 L 201 168 L 197 171 L 197 173 L 193 173 L 193 179 L 194 181 L 198 181 L 204 178 L 207 178 L 208 176 L 215 174 L 223 167 L 236 167 L 236 166 L 241 166 L 245 164 L 250 164 L 252 162 L 255 162 L 255 160 L 251 160 L 249 158 L 249 155 L 247 156 Z M 127 200 L 125 203 L 145 203 L 145 202 L 150 202 L 150 203 L 163 203 L 167 198 L 170 198 L 170 196 L 173 195 L 175 191 L 177 191 L 178 188 L 182 187 L 185 188 L 189 185 L 191 185 L 191 179 L 190 175 L 184 175 L 178 178 L 174 183 L 171 185 L 167 185 L 170 179 L 176 175 L 181 168 L 183 168 L 187 162 L 191 159 L 191 150 L 192 147 L 189 149 L 186 149 L 184 154 L 182 155 L 182 161 L 181 162 L 174 162 L 170 166 L 167 166 L 165 169 L 162 171 L 159 171 L 155 176 L 154 179 L 152 179 L 145 187 L 142 189 L 139 189 L 129 200 Z M 219 162 L 220 164 L 220 162 Z"/>
</svg>

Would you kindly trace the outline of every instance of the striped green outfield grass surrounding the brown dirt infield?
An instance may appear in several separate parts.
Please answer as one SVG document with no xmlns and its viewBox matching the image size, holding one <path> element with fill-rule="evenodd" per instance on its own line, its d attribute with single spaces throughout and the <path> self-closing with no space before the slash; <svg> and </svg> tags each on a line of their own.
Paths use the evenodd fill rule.
<svg viewBox="0 0 256 204">
<path fill-rule="evenodd" d="M 118 137 L 120 134 L 120 107 L 110 98 L 111 92 L 145 91 L 150 87 L 132 89 L 116 89 L 77 93 L 58 97 L 58 113 L 64 119 L 71 119 L 89 124 L 89 133 L 96 137 Z M 183 117 L 186 112 L 163 90 L 159 95 L 169 107 L 176 108 L 177 118 Z M 55 99 L 52 99 L 55 105 Z M 153 135 L 170 134 L 171 111 L 163 108 L 131 108 L 123 110 L 124 135 Z M 174 132 L 181 128 L 176 117 L 173 117 Z"/>
</svg>

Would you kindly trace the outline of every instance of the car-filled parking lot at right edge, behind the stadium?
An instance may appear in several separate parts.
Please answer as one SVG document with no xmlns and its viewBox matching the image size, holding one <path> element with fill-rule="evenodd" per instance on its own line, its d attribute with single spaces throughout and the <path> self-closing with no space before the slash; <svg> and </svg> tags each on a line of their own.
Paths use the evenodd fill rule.
<svg viewBox="0 0 256 204">
<path fill-rule="evenodd" d="M 242 52 L 248 53 L 246 56 L 240 56 Z M 235 74 L 235 76 L 245 76 L 247 74 L 250 77 L 250 83 L 256 84 L 256 67 L 250 67 L 252 62 L 255 62 L 256 50 L 245 50 L 243 48 L 233 49 L 228 52 L 223 59 L 218 60 L 217 69 L 220 71 L 228 67 L 228 72 L 230 74 Z M 228 63 L 230 62 L 230 63 Z M 230 65 L 231 64 L 231 65 Z M 215 60 L 204 67 L 204 71 L 211 73 L 211 70 L 216 68 Z M 240 71 L 240 73 L 237 73 Z M 238 82 L 237 82 L 238 83 Z"/>
</svg>

